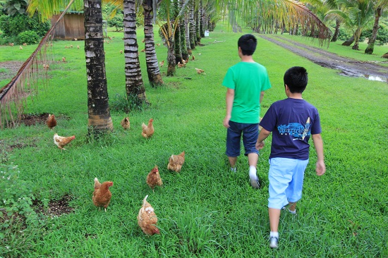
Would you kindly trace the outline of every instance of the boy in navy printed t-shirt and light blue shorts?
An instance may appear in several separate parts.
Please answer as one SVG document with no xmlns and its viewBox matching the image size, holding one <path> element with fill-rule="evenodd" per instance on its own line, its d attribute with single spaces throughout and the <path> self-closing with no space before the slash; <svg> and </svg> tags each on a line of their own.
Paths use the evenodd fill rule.
<svg viewBox="0 0 388 258">
<path fill-rule="evenodd" d="M 264 140 L 272 132 L 269 155 L 269 247 L 277 248 L 279 240 L 279 217 L 281 209 L 296 214 L 296 202 L 302 197 L 303 177 L 308 164 L 308 140 L 313 137 L 317 152 L 315 171 L 322 176 L 325 171 L 320 116 L 315 106 L 302 98 L 308 82 L 305 68 L 294 66 L 284 74 L 286 99 L 274 102 L 260 125 L 256 148 L 264 147 Z"/>
</svg>

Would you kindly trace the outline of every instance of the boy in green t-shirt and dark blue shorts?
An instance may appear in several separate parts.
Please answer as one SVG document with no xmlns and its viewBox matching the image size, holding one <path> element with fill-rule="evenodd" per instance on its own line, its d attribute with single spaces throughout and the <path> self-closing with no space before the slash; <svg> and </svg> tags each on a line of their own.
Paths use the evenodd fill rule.
<svg viewBox="0 0 388 258">
<path fill-rule="evenodd" d="M 238 39 L 238 56 L 241 62 L 231 66 L 222 85 L 226 91 L 226 155 L 231 170 L 236 171 L 237 157 L 240 156 L 240 141 L 243 136 L 245 156 L 248 156 L 250 185 L 259 188 L 256 174 L 259 152 L 255 148 L 259 134 L 260 102 L 264 91 L 271 87 L 267 69 L 253 61 L 257 46 L 255 36 L 246 34 Z"/>
</svg>

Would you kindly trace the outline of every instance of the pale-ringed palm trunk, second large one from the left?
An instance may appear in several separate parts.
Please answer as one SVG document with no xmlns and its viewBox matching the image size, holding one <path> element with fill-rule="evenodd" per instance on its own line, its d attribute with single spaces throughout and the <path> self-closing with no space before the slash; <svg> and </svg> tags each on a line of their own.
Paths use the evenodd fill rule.
<svg viewBox="0 0 388 258">
<path fill-rule="evenodd" d="M 136 37 L 135 0 L 123 0 L 124 54 L 126 59 L 126 94 L 137 106 L 147 102 L 139 62 L 139 47 Z"/>
</svg>

